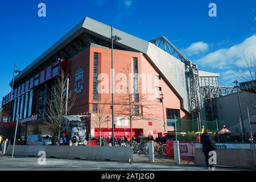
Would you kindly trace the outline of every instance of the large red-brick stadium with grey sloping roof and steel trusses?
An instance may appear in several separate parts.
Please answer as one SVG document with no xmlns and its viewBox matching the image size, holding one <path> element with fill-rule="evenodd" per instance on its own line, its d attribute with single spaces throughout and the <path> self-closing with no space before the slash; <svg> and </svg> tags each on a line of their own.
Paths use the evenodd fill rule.
<svg viewBox="0 0 256 182">
<path fill-rule="evenodd" d="M 98 137 L 97 108 L 106 100 L 105 114 L 108 114 L 108 119 L 101 131 L 105 137 L 111 136 L 113 36 L 121 38 L 113 45 L 114 86 L 120 81 L 119 73 L 124 73 L 127 67 L 130 73 L 138 75 L 133 83 L 134 92 L 138 93 L 134 94 L 133 107 L 135 115 L 143 117 L 133 121 L 135 137 L 156 137 L 164 131 L 174 131 L 175 118 L 214 120 L 217 109 L 212 99 L 234 92 L 233 88 L 218 84 L 220 75 L 217 73 L 200 71 L 164 36 L 146 41 L 115 28 L 113 36 L 111 32 L 110 26 L 86 17 L 19 73 L 14 78 L 13 94 L 7 94 L 2 100 L 1 125 L 5 132 L 14 132 L 18 114 L 18 135 L 26 137 L 51 132 L 40 119 L 45 117 L 47 90 L 60 72 L 64 72 L 69 76 L 69 90 L 76 98 L 68 114 L 86 115 L 81 118 L 86 123 L 87 131 Z M 99 88 L 102 81 L 105 83 L 103 93 Z M 145 85 L 150 89 L 142 93 Z M 128 137 L 129 119 L 118 113 L 126 105 L 119 102 L 123 93 L 114 91 L 114 135 Z M 160 96 L 162 93 L 163 99 Z M 142 94 L 148 97 L 145 99 Z M 148 102 L 151 107 L 145 107 Z"/>
</svg>

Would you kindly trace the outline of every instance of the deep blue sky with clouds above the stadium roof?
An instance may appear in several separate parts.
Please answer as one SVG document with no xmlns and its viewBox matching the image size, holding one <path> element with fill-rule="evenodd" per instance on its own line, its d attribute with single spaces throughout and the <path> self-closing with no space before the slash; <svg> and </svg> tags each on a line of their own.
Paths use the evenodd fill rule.
<svg viewBox="0 0 256 182">
<path fill-rule="evenodd" d="M 46 4 L 46 17 L 38 4 Z M 217 5 L 209 17 L 208 5 Z M 0 100 L 10 92 L 14 63 L 25 68 L 85 16 L 144 40 L 166 36 L 204 71 L 233 86 L 241 51 L 256 55 L 256 1 L 20 0 L 0 2 Z"/>
</svg>

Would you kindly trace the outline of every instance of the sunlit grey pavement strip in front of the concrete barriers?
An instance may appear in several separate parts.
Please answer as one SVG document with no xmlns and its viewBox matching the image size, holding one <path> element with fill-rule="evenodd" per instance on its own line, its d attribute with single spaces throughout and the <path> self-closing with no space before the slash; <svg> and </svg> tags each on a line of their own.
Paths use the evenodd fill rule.
<svg viewBox="0 0 256 182">
<path fill-rule="evenodd" d="M 135 162 L 112 162 L 84 159 L 56 159 L 47 158 L 46 164 L 39 164 L 34 157 L 17 157 L 0 155 L 0 171 L 208 171 L 205 167 L 187 165 L 184 162 L 176 165 L 171 159 L 156 156 L 155 163 L 149 163 L 147 156 L 134 156 Z M 243 170 L 216 167 L 215 171 Z"/>
</svg>

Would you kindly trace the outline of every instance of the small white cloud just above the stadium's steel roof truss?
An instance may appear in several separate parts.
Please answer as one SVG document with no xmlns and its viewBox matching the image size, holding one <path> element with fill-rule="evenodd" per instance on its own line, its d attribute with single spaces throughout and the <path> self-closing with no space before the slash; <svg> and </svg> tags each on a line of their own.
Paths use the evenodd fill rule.
<svg viewBox="0 0 256 182">
<path fill-rule="evenodd" d="M 208 51 L 209 44 L 204 42 L 196 42 L 192 43 L 188 48 L 184 49 L 184 54 L 187 56 L 193 56 L 197 55 L 199 53 L 203 53 L 205 51 Z"/>
</svg>

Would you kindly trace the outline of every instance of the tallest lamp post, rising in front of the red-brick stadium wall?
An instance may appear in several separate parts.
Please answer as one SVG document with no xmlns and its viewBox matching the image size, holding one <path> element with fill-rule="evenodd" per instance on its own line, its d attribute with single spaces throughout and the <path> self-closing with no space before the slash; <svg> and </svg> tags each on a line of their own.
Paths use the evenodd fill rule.
<svg viewBox="0 0 256 182">
<path fill-rule="evenodd" d="M 115 145 L 114 137 L 114 89 L 113 89 L 113 42 L 121 40 L 117 35 L 113 36 L 113 26 L 111 26 L 111 80 L 112 80 L 112 146 Z"/>
</svg>

